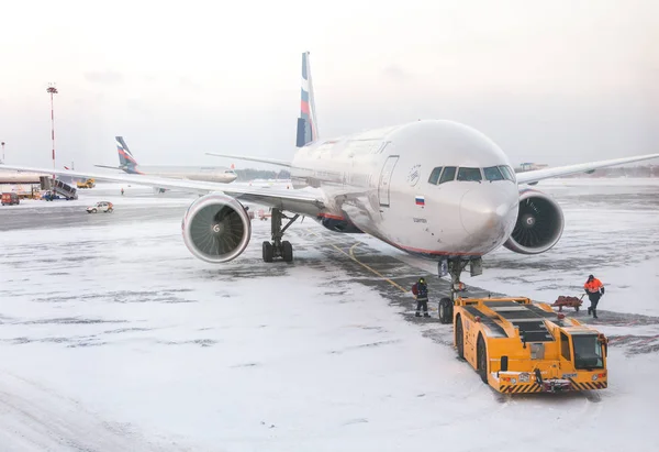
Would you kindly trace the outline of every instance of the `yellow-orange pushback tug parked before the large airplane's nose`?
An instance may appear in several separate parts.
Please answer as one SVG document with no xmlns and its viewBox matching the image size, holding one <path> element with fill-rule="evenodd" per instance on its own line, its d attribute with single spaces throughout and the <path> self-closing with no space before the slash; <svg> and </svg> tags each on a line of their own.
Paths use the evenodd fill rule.
<svg viewBox="0 0 659 452">
<path fill-rule="evenodd" d="M 457 298 L 455 346 L 505 394 L 606 388 L 607 340 L 528 298 Z"/>
</svg>

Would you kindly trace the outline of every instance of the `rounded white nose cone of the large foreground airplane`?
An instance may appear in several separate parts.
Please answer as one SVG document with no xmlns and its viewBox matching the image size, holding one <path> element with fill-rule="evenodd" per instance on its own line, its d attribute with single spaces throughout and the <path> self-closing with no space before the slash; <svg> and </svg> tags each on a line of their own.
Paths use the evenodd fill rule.
<svg viewBox="0 0 659 452">
<path fill-rule="evenodd" d="M 500 240 L 512 232 L 517 218 L 517 191 L 513 187 L 483 185 L 460 201 L 462 228 L 470 235 Z"/>
</svg>

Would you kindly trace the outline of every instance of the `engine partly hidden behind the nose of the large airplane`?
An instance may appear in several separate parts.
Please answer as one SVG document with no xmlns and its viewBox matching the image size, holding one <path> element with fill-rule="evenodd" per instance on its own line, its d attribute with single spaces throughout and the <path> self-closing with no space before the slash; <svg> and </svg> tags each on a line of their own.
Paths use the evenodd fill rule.
<svg viewBox="0 0 659 452">
<path fill-rule="evenodd" d="M 541 191 L 524 190 L 517 223 L 503 246 L 520 254 L 544 253 L 558 243 L 563 225 L 562 209 L 554 199 Z"/>
</svg>

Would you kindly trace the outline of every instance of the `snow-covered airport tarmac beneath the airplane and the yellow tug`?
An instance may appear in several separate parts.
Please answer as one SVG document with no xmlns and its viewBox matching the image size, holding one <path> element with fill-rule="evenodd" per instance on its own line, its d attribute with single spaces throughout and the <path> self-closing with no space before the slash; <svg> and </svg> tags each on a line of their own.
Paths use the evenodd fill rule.
<svg viewBox="0 0 659 452">
<path fill-rule="evenodd" d="M 610 387 L 500 396 L 414 317 L 436 265 L 365 235 L 293 224 L 292 264 L 196 260 L 187 195 L 131 187 L 0 209 L 0 451 L 656 451 L 659 181 L 540 183 L 566 230 L 536 256 L 498 250 L 469 295 L 554 301 L 606 285 L 595 324 Z M 99 200 L 113 213 L 88 214 Z M 257 209 L 257 207 L 253 207 Z M 476 286 L 480 287 L 477 288 Z"/>
</svg>

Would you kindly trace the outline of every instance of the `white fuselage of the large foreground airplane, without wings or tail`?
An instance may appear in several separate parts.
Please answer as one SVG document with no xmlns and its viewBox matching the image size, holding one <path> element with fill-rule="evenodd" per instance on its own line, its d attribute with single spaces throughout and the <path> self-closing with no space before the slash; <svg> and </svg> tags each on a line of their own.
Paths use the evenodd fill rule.
<svg viewBox="0 0 659 452">
<path fill-rule="evenodd" d="M 453 179 L 428 181 L 445 167 L 456 168 Z M 327 209 L 319 221 L 344 220 L 428 258 L 482 256 L 507 240 L 517 220 L 520 191 L 503 151 L 450 121 L 310 143 L 293 159 L 291 181 L 324 194 Z"/>
</svg>

